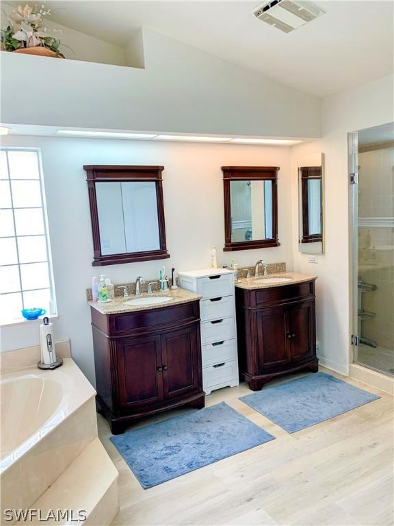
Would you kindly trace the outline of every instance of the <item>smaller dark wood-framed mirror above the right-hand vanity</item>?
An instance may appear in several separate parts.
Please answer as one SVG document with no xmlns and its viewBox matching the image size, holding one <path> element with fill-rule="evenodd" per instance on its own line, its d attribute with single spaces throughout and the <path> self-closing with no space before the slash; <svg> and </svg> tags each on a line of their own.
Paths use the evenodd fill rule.
<svg viewBox="0 0 394 526">
<path fill-rule="evenodd" d="M 278 247 L 278 166 L 222 166 L 224 251 Z"/>
</svg>

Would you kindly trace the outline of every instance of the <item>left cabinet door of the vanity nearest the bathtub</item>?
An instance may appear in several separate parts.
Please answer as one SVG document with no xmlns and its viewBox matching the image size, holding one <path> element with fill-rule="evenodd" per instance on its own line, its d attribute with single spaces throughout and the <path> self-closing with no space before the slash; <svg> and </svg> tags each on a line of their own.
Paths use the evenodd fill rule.
<svg viewBox="0 0 394 526">
<path fill-rule="evenodd" d="M 131 409 L 163 400 L 160 336 L 127 338 L 116 347 L 120 406 Z"/>
</svg>

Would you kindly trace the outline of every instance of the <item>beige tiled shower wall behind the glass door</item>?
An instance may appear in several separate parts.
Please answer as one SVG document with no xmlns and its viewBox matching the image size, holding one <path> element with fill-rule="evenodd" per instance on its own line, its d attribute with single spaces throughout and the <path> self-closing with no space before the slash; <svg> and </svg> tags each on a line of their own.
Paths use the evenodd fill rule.
<svg viewBox="0 0 394 526">
<path fill-rule="evenodd" d="M 361 336 L 393 350 L 394 228 L 389 225 L 394 216 L 394 149 L 359 153 L 358 164 L 358 275 L 376 285 L 362 293 L 362 309 L 376 316 L 362 321 Z"/>
</svg>

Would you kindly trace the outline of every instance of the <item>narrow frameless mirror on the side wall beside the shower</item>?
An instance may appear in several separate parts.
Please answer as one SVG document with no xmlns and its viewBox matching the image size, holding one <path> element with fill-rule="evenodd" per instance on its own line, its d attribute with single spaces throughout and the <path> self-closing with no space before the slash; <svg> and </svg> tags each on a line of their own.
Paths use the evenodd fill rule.
<svg viewBox="0 0 394 526">
<path fill-rule="evenodd" d="M 323 154 L 308 155 L 298 162 L 299 250 L 324 251 L 324 167 Z"/>
</svg>

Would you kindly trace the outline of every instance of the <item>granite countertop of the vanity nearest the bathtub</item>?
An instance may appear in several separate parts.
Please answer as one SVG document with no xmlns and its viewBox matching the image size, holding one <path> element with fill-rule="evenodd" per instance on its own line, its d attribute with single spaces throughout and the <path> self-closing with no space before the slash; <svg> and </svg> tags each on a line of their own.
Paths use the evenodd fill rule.
<svg viewBox="0 0 394 526">
<path fill-rule="evenodd" d="M 127 302 L 138 298 L 150 298 L 150 297 L 161 297 L 170 296 L 172 299 L 165 303 L 155 303 L 153 305 L 128 305 Z M 140 310 L 153 310 L 160 309 L 162 307 L 171 307 L 172 305 L 180 305 L 181 303 L 189 303 L 189 301 L 196 301 L 201 299 L 200 294 L 196 292 L 189 292 L 184 288 L 176 288 L 164 290 L 163 292 L 153 292 L 152 295 L 142 294 L 140 296 L 129 296 L 129 297 L 115 297 L 109 303 L 98 303 L 89 301 L 89 305 L 92 308 L 101 312 L 101 314 L 123 314 L 124 312 L 138 312 Z"/>
</svg>

